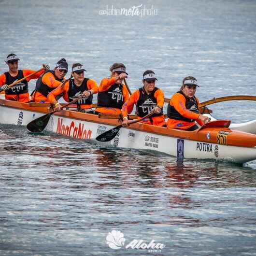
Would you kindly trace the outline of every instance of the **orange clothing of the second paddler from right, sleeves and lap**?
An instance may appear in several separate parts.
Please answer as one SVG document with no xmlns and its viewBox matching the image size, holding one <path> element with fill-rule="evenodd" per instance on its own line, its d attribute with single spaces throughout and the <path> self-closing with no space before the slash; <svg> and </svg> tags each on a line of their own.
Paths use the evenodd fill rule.
<svg viewBox="0 0 256 256">
<path fill-rule="evenodd" d="M 156 92 L 154 93 L 154 97 L 156 98 L 157 106 L 162 108 L 163 105 L 164 105 L 164 93 L 163 93 L 163 91 L 161 89 L 157 89 Z M 134 104 L 137 103 L 139 98 L 140 98 L 140 91 L 139 90 L 136 90 L 134 93 L 132 93 L 130 98 L 124 103 L 124 105 L 122 107 L 123 117 L 126 117 L 127 114 L 132 111 L 132 109 L 134 107 Z M 146 124 L 156 125 L 156 126 L 165 125 L 164 115 L 158 115 L 158 116 L 145 118 L 142 122 L 146 123 Z"/>
</svg>

